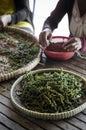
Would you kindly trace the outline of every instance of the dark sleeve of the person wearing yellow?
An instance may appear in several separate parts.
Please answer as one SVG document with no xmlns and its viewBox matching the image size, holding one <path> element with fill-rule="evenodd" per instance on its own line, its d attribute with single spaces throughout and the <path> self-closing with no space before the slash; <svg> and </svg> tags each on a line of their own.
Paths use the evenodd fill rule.
<svg viewBox="0 0 86 130">
<path fill-rule="evenodd" d="M 29 0 L 15 0 L 16 12 L 11 17 L 11 24 L 15 24 L 19 21 L 28 21 L 32 23 L 32 12 L 29 6 Z"/>
</svg>

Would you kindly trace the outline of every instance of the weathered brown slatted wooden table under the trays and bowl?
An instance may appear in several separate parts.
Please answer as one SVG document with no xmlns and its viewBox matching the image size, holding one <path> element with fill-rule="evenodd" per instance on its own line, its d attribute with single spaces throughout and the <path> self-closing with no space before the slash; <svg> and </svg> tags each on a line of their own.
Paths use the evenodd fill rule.
<svg viewBox="0 0 86 130">
<path fill-rule="evenodd" d="M 63 67 L 86 78 L 86 60 L 79 57 L 74 56 L 68 61 L 42 58 L 42 62 L 35 69 Z M 10 88 L 15 80 L 0 83 L 0 130 L 86 130 L 86 109 L 71 118 L 57 121 L 43 121 L 22 115 L 10 102 Z"/>
</svg>

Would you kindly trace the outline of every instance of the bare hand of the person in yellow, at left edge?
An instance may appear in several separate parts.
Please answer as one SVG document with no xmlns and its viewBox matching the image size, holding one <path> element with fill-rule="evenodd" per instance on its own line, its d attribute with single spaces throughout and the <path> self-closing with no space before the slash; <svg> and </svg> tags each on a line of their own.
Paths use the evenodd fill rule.
<svg viewBox="0 0 86 130">
<path fill-rule="evenodd" d="M 11 15 L 2 15 L 0 16 L 0 28 L 5 27 L 8 23 L 11 22 Z"/>
</svg>

